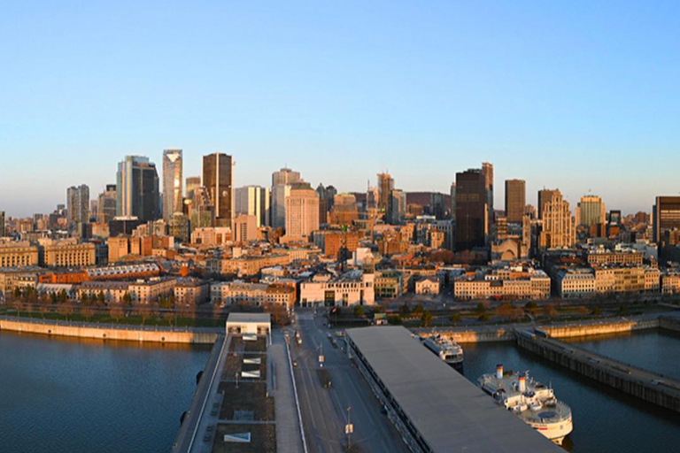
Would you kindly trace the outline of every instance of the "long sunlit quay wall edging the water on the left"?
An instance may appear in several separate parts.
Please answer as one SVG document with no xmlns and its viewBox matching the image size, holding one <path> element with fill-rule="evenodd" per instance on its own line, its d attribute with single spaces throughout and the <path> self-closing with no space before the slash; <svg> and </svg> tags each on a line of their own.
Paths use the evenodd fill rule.
<svg viewBox="0 0 680 453">
<path fill-rule="evenodd" d="M 26 332 L 55 336 L 97 338 L 125 342 L 166 342 L 213 344 L 220 329 L 174 329 L 141 326 L 92 325 L 48 320 L 0 319 L 0 331 Z"/>
</svg>

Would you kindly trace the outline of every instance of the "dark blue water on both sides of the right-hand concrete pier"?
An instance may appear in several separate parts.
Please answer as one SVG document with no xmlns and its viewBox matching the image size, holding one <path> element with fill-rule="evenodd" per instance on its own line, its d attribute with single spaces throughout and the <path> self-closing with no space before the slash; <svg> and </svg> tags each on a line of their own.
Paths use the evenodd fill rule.
<svg viewBox="0 0 680 453">
<path fill-rule="evenodd" d="M 609 336 L 581 342 L 631 364 L 677 376 L 680 337 L 654 331 Z M 564 447 L 574 452 L 680 451 L 680 415 L 623 395 L 565 368 L 517 349 L 513 343 L 463 344 L 465 375 L 476 383 L 496 364 L 514 371 L 529 370 L 537 380 L 553 384 L 555 394 L 571 407 L 574 431 Z"/>
</svg>

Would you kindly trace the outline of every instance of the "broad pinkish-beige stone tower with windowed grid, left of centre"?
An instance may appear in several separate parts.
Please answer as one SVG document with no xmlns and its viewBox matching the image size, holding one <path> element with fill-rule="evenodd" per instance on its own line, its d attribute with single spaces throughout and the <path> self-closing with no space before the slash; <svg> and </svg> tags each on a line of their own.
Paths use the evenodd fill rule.
<svg viewBox="0 0 680 453">
<path fill-rule="evenodd" d="M 286 236 L 304 239 L 318 229 L 319 195 L 307 182 L 292 184 L 286 197 Z"/>
</svg>

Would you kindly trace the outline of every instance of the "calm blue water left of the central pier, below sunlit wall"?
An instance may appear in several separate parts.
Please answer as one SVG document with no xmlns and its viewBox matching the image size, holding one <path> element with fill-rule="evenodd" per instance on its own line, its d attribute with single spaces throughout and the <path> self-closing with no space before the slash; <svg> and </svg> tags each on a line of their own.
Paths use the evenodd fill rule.
<svg viewBox="0 0 680 453">
<path fill-rule="evenodd" d="M 0 451 L 169 451 L 209 354 L 2 333 Z"/>
</svg>

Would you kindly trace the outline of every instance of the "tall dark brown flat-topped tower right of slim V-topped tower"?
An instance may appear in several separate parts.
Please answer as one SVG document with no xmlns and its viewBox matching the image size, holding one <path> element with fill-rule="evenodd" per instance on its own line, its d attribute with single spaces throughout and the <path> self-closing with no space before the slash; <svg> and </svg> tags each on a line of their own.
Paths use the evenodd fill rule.
<svg viewBox="0 0 680 453">
<path fill-rule="evenodd" d="M 231 226 L 234 218 L 234 160 L 228 154 L 203 157 L 203 186 L 215 206 L 217 226 Z"/>
</svg>

